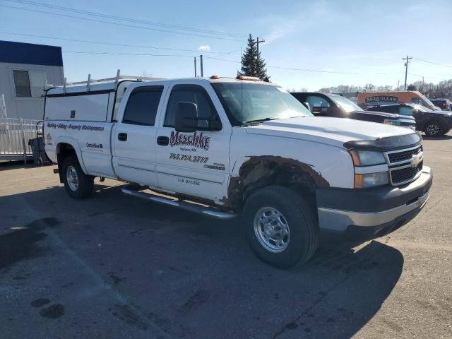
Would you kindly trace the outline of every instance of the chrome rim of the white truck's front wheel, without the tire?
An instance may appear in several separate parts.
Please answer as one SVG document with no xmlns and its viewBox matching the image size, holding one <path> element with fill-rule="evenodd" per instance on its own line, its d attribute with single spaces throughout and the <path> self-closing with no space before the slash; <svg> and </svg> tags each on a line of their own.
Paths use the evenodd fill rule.
<svg viewBox="0 0 452 339">
<path fill-rule="evenodd" d="M 282 252 L 289 246 L 289 223 L 276 208 L 263 207 L 256 212 L 254 233 L 263 248 L 272 253 Z"/>
</svg>

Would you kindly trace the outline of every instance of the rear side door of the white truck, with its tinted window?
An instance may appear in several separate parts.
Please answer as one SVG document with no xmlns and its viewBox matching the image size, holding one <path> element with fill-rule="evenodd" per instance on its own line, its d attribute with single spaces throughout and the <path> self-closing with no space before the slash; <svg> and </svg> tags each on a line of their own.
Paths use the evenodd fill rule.
<svg viewBox="0 0 452 339">
<path fill-rule="evenodd" d="M 131 85 L 122 100 L 112 132 L 113 167 L 119 179 L 156 186 L 156 123 L 165 90 L 164 83 Z"/>
</svg>

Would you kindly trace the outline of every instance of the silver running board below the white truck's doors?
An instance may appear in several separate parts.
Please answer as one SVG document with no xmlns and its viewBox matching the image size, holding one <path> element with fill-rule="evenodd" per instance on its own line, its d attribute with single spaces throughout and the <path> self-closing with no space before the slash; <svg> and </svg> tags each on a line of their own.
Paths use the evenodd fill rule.
<svg viewBox="0 0 452 339">
<path fill-rule="evenodd" d="M 169 198 L 163 198 L 161 196 L 155 196 L 153 194 L 148 194 L 141 191 L 136 191 L 133 189 L 121 189 L 122 193 L 126 196 L 136 196 L 137 198 L 146 199 L 149 201 L 153 201 L 155 203 L 165 203 L 169 206 L 174 206 L 177 208 L 182 208 L 183 210 L 188 210 L 190 212 L 199 213 L 203 215 L 208 215 L 213 218 L 218 218 L 222 220 L 232 219 L 237 216 L 234 212 L 221 211 L 215 208 L 210 208 L 203 205 L 198 205 L 195 203 L 188 203 L 186 201 L 181 200 L 171 200 Z"/>
</svg>

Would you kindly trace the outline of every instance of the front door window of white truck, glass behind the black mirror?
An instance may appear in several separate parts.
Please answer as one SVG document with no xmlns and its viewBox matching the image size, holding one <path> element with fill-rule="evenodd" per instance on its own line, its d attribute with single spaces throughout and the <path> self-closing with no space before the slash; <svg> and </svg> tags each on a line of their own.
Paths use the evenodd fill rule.
<svg viewBox="0 0 452 339">
<path fill-rule="evenodd" d="M 198 118 L 201 120 L 220 120 L 213 102 L 204 88 L 198 85 L 175 85 L 172 88 L 171 95 L 169 95 L 163 126 L 174 127 L 178 102 L 193 102 L 196 104 Z"/>
</svg>

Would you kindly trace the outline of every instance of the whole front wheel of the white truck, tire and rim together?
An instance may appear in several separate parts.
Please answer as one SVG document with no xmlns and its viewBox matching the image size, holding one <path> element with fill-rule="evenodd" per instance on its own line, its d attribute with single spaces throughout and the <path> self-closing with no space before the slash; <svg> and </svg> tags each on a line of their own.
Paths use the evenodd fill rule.
<svg viewBox="0 0 452 339">
<path fill-rule="evenodd" d="M 319 226 L 309 203 L 283 186 L 249 196 L 244 206 L 246 239 L 256 256 L 278 268 L 300 266 L 313 256 Z"/>
</svg>

